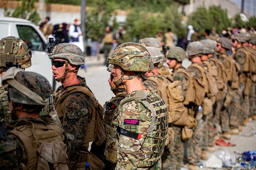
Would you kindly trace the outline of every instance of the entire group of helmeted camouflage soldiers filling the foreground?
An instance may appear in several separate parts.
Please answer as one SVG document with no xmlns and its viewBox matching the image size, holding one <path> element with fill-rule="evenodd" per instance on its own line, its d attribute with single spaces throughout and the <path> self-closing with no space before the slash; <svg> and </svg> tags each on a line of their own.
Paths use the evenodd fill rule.
<svg viewBox="0 0 256 170">
<path fill-rule="evenodd" d="M 84 65 L 79 47 L 52 42 L 48 48 L 62 83 L 52 92 L 45 77 L 22 70 L 31 65 L 25 42 L 3 38 L 1 169 L 180 170 L 184 160 L 185 168 L 197 170 L 200 158 L 214 151 L 214 126 L 230 139 L 256 116 L 256 59 L 249 47 L 256 39 L 241 34 L 232 40 L 233 57 L 225 37 L 191 42 L 186 52 L 170 48 L 165 56 L 172 74 L 159 40 L 119 45 L 108 57 L 116 97 L 103 109 L 77 75 Z"/>
</svg>

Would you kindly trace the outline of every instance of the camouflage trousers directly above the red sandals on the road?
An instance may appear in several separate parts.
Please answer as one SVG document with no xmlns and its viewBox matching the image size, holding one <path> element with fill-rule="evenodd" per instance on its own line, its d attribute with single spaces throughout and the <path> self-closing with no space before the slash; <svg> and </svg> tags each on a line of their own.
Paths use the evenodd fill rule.
<svg viewBox="0 0 256 170">
<path fill-rule="evenodd" d="M 222 133 L 227 132 L 229 128 L 229 115 L 227 107 L 224 107 L 225 98 L 215 102 L 213 105 L 213 123 L 215 126 L 220 125 Z M 214 134 L 218 134 L 218 130 L 215 130 Z"/>
</svg>

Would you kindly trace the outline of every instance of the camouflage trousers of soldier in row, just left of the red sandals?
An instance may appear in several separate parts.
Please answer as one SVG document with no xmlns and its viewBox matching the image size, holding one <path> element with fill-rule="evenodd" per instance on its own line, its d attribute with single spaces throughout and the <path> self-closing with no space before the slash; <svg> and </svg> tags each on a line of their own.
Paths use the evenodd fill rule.
<svg viewBox="0 0 256 170">
<path fill-rule="evenodd" d="M 214 143 L 214 123 L 213 111 L 206 116 L 206 124 L 203 130 L 202 150 L 207 150 L 207 147 L 213 147 Z"/>
</svg>

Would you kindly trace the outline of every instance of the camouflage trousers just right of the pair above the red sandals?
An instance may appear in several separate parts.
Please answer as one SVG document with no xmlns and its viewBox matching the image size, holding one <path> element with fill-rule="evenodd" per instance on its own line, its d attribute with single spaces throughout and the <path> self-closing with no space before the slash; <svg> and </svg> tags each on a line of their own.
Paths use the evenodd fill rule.
<svg viewBox="0 0 256 170">
<path fill-rule="evenodd" d="M 228 105 L 228 115 L 230 119 L 230 129 L 239 128 L 239 115 L 240 115 L 240 97 L 238 89 L 229 88 L 229 93 L 232 93 L 232 100 Z"/>
</svg>

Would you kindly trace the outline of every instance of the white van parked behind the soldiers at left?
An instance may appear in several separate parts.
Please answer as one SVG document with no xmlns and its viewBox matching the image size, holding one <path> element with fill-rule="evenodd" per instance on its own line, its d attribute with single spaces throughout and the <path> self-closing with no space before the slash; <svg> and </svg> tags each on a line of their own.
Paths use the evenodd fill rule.
<svg viewBox="0 0 256 170">
<path fill-rule="evenodd" d="M 32 44 L 32 65 L 26 68 L 27 71 L 37 72 L 46 77 L 55 90 L 60 83 L 57 83 L 52 74 L 52 64 L 48 58 L 47 47 L 49 42 L 36 25 L 26 19 L 0 17 L 0 39 L 8 36 L 19 37 L 23 41 Z"/>
</svg>

